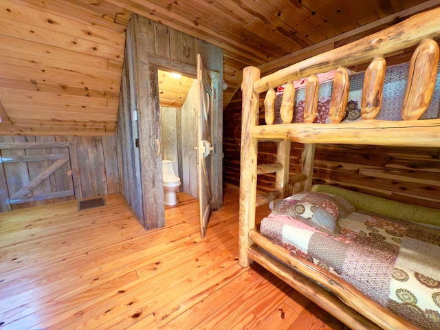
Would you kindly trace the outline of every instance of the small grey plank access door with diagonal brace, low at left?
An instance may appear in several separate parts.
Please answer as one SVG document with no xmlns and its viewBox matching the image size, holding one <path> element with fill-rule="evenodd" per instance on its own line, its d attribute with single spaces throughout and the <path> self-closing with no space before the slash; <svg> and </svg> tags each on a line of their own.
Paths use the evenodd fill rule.
<svg viewBox="0 0 440 330">
<path fill-rule="evenodd" d="M 67 173 L 57 174 L 66 168 Z M 60 182 L 49 184 L 44 192 L 36 189 L 52 174 Z M 69 196 L 80 199 L 76 142 L 1 142 L 0 186 L 3 212 L 19 203 Z"/>
</svg>

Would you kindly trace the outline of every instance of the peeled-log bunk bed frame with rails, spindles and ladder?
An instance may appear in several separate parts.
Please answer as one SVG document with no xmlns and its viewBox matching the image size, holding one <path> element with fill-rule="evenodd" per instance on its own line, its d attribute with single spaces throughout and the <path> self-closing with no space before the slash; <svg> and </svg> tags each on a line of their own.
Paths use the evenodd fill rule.
<svg viewBox="0 0 440 330">
<path fill-rule="evenodd" d="M 328 267 L 325 269 L 325 267 L 317 265 L 318 262 L 314 260 L 314 256 L 309 256 L 309 258 L 307 258 L 307 256 L 306 258 L 300 256 L 297 248 L 301 243 L 298 243 L 298 245 L 292 243 L 292 245 L 296 246 L 296 248 L 292 249 L 292 245 L 289 245 L 291 243 L 285 244 L 285 242 L 281 242 L 282 239 L 271 239 L 270 234 L 262 234 L 261 227 L 263 226 L 263 221 L 261 221 L 261 225 L 256 225 L 256 207 L 272 201 L 272 212 L 278 211 L 278 214 L 281 214 L 281 211 L 284 210 L 288 216 L 292 216 L 292 213 L 295 212 L 289 210 L 289 206 L 296 205 L 298 201 L 301 201 L 301 198 L 307 196 L 307 192 L 316 191 L 314 187 L 312 187 L 312 176 L 314 146 L 317 143 L 439 147 L 440 115 L 438 98 L 436 101 L 437 104 L 434 104 L 434 107 L 437 107 L 437 115 L 434 115 L 434 117 L 430 119 L 420 119 L 423 118 L 423 113 L 428 109 L 432 95 L 434 94 L 434 89 L 437 88 L 435 87 L 436 80 L 437 85 L 440 80 L 437 74 L 439 66 L 439 45 L 434 41 L 434 39 L 438 39 L 439 36 L 440 8 L 436 8 L 428 12 L 417 14 L 406 19 L 406 21 L 397 23 L 381 32 L 371 34 L 359 41 L 280 69 L 263 78 L 260 78 L 260 70 L 256 67 L 246 67 L 243 71 L 243 83 L 241 85 L 243 94 L 243 115 L 241 132 L 239 263 L 243 267 L 248 267 L 254 261 L 263 265 L 267 270 L 276 274 L 298 292 L 304 294 L 317 305 L 329 311 L 330 314 L 336 316 L 352 329 L 440 329 L 440 255 L 437 254 L 439 253 L 438 249 L 440 249 L 440 230 L 437 228 L 428 228 L 428 226 L 421 224 L 397 222 L 399 224 L 397 228 L 406 226 L 407 229 L 409 228 L 407 230 L 408 232 L 412 230 L 423 232 L 423 228 L 426 228 L 428 234 L 426 234 L 426 232 L 424 233 L 430 237 L 428 243 L 422 243 L 425 250 L 429 250 L 429 256 L 426 258 L 416 257 L 415 259 L 434 259 L 432 269 L 434 270 L 434 274 L 436 271 L 437 274 L 433 276 L 434 278 L 428 276 L 428 281 L 430 281 L 431 289 L 434 288 L 432 297 L 437 300 L 434 301 L 434 307 L 431 306 L 433 305 L 431 301 L 431 305 L 426 305 L 428 307 L 424 306 L 426 309 L 421 311 L 421 314 L 424 313 L 423 315 L 426 316 L 428 320 L 423 318 L 419 320 L 419 317 L 412 319 L 412 317 L 417 314 L 413 313 L 413 311 L 410 312 L 409 316 L 405 313 L 400 313 L 400 311 L 396 311 L 396 309 L 399 309 L 399 306 L 404 306 L 410 310 L 419 310 L 419 307 L 413 307 L 410 301 L 404 300 L 404 303 L 398 302 L 402 303 L 401 305 L 395 302 L 395 305 L 391 303 L 391 305 L 395 307 L 392 311 L 387 305 L 391 300 L 391 298 L 388 299 L 388 296 L 385 297 L 381 304 L 381 302 L 371 298 L 374 294 L 371 295 L 371 292 L 362 292 L 359 287 L 350 283 L 347 278 L 340 276 L 339 270 L 333 269 L 332 271 L 329 270 Z M 384 56 L 416 46 L 417 48 L 408 64 L 408 83 L 404 90 L 401 118 L 399 120 L 375 119 L 377 113 L 380 113 L 382 102 L 384 101 L 382 95 L 384 80 L 386 80 L 386 78 L 384 78 L 386 72 Z M 350 85 L 349 72 L 346 67 L 369 63 L 370 61 L 371 64 L 368 69 L 366 69 L 366 72 L 364 72 L 364 85 L 361 94 L 362 118 L 351 122 L 341 122 L 347 106 Z M 317 113 L 318 89 L 320 88 L 317 74 L 330 72 L 331 70 L 335 71 L 333 71 L 334 76 L 330 82 L 332 94 L 327 119 L 329 123 L 320 124 L 314 122 Z M 292 82 L 303 78 L 307 78 L 303 122 L 292 122 L 294 111 L 296 111 L 294 110 L 296 90 Z M 276 113 L 278 114 L 278 109 L 276 109 L 275 105 L 275 89 L 281 85 L 284 86 L 281 107 L 279 108 L 279 116 L 281 117 L 282 123 L 274 124 L 274 122 L 277 121 Z M 260 94 L 263 93 L 265 93 L 264 106 L 266 124 L 259 125 L 259 100 Z M 277 143 L 275 164 L 257 165 L 258 143 L 261 141 Z M 304 144 L 301 160 L 303 173 L 298 175 L 289 175 L 289 151 L 291 141 Z M 257 175 L 265 173 L 275 173 L 274 191 L 266 195 L 257 195 Z M 300 197 L 289 197 L 293 193 L 295 193 L 293 196 L 299 193 Z M 350 197 L 353 194 L 360 193 L 349 192 L 345 194 L 345 197 Z M 328 196 L 333 197 L 333 190 L 331 190 L 331 195 Z M 287 197 L 287 199 L 285 199 L 285 197 Z M 381 199 L 381 197 L 374 198 Z M 377 203 L 381 202 L 382 201 L 377 201 Z M 341 201 L 341 203 L 348 203 L 348 208 L 354 205 L 351 204 L 351 201 L 346 201 L 345 199 Z M 373 204 L 374 203 L 375 201 L 373 201 Z M 405 209 L 405 206 L 401 205 L 402 203 L 395 201 L 394 203 L 397 203 L 397 208 Z M 279 205 L 282 206 L 278 207 Z M 337 201 L 332 205 L 340 206 Z M 353 208 L 356 208 L 356 206 L 353 206 Z M 432 221 L 434 221 L 434 224 L 436 221 L 437 225 L 439 224 L 440 210 L 424 211 L 428 213 L 431 212 Z M 315 211 L 312 210 L 312 212 Z M 344 211 L 339 210 L 339 212 L 341 213 L 339 215 L 342 217 Z M 412 209 L 404 213 L 409 214 L 411 212 Z M 368 212 L 364 212 L 364 216 L 361 216 L 361 218 L 368 216 L 368 214 L 370 214 L 373 219 L 378 219 L 375 217 L 375 213 Z M 302 217 L 299 218 L 304 219 Z M 306 223 L 313 227 L 314 221 L 310 221 L 310 219 L 313 220 L 313 217 L 305 216 L 305 218 L 309 220 L 309 222 L 306 221 Z M 364 222 L 368 221 L 370 220 Z M 385 215 L 383 221 L 389 224 L 391 219 Z M 417 219 L 417 221 L 421 222 L 421 219 Z M 336 223 L 336 227 L 342 222 L 339 219 Z M 371 225 L 371 223 L 369 225 Z M 285 230 L 285 223 L 280 226 Z M 377 226 L 380 227 L 381 225 L 379 224 Z M 318 223 L 318 225 L 311 230 L 320 232 L 322 235 L 320 237 L 325 238 L 325 242 L 328 242 L 328 238 L 332 236 L 332 234 L 331 232 L 327 234 L 325 232 L 322 233 L 321 230 L 325 231 L 325 228 L 325 223 Z M 361 228 L 360 231 L 362 232 L 362 230 L 366 232 L 365 228 Z M 372 230 L 374 230 L 374 228 Z M 344 231 L 344 228 L 340 228 L 340 232 L 342 231 Z M 379 230 L 376 228 L 375 231 L 377 232 Z M 335 235 L 337 236 L 337 234 Z M 414 236 L 412 234 L 408 235 Z M 387 243 L 390 237 L 391 235 L 388 235 L 386 239 Z M 391 241 L 387 246 L 388 248 L 391 246 L 391 250 L 395 249 L 396 245 L 401 244 L 403 246 L 404 243 L 402 242 L 404 239 L 405 238 L 400 235 L 398 239 Z M 353 239 L 353 241 L 355 241 L 355 239 Z M 434 248 L 434 250 L 431 248 Z M 366 251 L 370 251 L 368 249 Z M 316 250 L 319 250 L 319 248 L 316 248 Z M 296 251 L 297 253 L 293 253 L 292 251 Z M 307 254 L 307 251 L 305 254 Z M 329 258 L 331 259 L 331 257 Z M 394 260 L 394 262 L 397 261 Z M 340 262 L 343 263 L 343 261 Z M 368 262 L 371 262 L 371 258 L 369 258 Z M 333 265 L 333 267 L 336 266 Z M 390 266 L 388 265 L 386 267 L 388 267 L 387 269 L 389 270 Z M 393 267 L 393 265 L 391 265 L 391 267 Z M 394 275 L 397 268 L 399 267 L 395 267 L 393 270 Z M 360 275 L 362 276 L 362 274 Z M 380 276 L 378 278 L 380 278 Z M 399 278 L 397 279 L 400 281 Z M 366 285 L 367 287 L 373 288 L 374 291 L 375 285 L 379 287 L 381 283 L 375 283 L 374 279 L 371 279 L 371 282 Z M 388 289 L 393 287 L 393 285 L 389 283 L 384 286 Z M 436 288 L 437 291 L 435 291 Z M 437 305 L 437 307 L 435 305 Z"/>
</svg>

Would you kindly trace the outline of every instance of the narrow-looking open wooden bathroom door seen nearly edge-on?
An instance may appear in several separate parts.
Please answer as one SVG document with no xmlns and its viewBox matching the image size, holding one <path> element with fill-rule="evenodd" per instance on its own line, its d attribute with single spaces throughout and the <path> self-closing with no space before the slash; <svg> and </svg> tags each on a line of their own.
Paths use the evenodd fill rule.
<svg viewBox="0 0 440 330">
<path fill-rule="evenodd" d="M 200 234 L 206 234 L 212 210 L 212 85 L 208 70 L 197 54 L 197 118 L 198 127 L 198 176 L 200 205 Z"/>
</svg>

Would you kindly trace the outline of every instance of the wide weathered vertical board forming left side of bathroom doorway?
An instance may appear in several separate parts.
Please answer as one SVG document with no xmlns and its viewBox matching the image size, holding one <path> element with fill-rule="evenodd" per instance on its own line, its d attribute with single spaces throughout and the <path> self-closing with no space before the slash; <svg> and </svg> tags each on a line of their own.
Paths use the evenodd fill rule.
<svg viewBox="0 0 440 330">
<path fill-rule="evenodd" d="M 146 229 L 161 228 L 165 225 L 165 212 L 162 208 L 164 205 L 162 155 L 157 148 L 157 141 L 161 138 L 158 67 L 148 63 L 148 53 L 154 45 L 154 40 L 151 40 L 149 34 L 148 38 L 145 38 L 143 34 L 146 29 L 151 29 L 152 25 L 143 17 L 132 15 L 129 27 L 131 51 L 133 52 L 131 54 L 133 78 L 130 78 L 130 89 L 135 91 L 138 112 L 138 151 L 143 196 L 140 207 L 142 208 L 144 227 Z M 143 88 L 144 86 L 148 86 L 148 88 Z M 137 160 L 135 159 L 135 161 Z"/>
</svg>

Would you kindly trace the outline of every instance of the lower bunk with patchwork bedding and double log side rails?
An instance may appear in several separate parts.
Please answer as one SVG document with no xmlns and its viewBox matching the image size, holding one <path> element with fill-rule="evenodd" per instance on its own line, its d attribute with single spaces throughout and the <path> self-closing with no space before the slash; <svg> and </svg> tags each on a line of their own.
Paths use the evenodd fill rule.
<svg viewBox="0 0 440 330">
<path fill-rule="evenodd" d="M 353 329 L 440 329 L 439 225 L 440 210 L 317 185 L 276 203 L 248 257 Z"/>
</svg>

